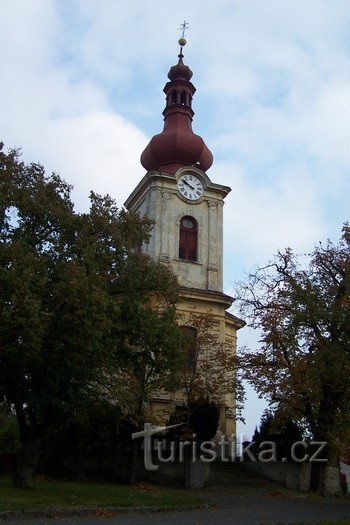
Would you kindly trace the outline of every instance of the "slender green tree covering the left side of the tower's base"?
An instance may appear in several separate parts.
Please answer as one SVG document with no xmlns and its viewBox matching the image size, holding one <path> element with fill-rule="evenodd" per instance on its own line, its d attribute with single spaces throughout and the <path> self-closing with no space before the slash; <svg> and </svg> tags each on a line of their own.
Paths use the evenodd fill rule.
<svg viewBox="0 0 350 525">
<path fill-rule="evenodd" d="M 183 361 L 176 316 L 179 285 L 166 266 L 155 265 L 142 254 L 121 282 L 122 323 L 115 331 L 118 363 L 114 373 L 106 375 L 105 388 L 128 420 L 142 428 L 149 418 L 152 397 L 174 392 L 179 385 Z M 166 295 L 156 293 L 165 285 Z M 132 441 L 130 483 L 136 481 L 139 445 L 139 440 Z"/>
</svg>

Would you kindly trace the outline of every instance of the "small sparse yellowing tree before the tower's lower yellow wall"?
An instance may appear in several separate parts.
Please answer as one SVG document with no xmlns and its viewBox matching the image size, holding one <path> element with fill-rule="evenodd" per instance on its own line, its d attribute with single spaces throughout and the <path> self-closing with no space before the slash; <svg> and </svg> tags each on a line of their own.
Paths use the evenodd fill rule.
<svg viewBox="0 0 350 525">
<path fill-rule="evenodd" d="M 219 417 L 227 409 L 240 414 L 243 390 L 237 375 L 233 342 L 222 341 L 220 321 L 212 312 L 191 313 L 181 319 L 184 362 L 181 373 L 182 402 L 169 419 L 181 424 L 168 431 L 168 441 L 210 440 Z M 226 413 L 225 413 L 226 416 Z M 190 486 L 190 449 L 184 450 L 185 486 Z"/>
</svg>

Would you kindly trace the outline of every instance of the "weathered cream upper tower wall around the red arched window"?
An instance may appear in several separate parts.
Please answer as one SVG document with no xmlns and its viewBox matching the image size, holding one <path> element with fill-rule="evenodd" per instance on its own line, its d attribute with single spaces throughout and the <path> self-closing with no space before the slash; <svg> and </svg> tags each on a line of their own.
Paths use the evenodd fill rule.
<svg viewBox="0 0 350 525">
<path fill-rule="evenodd" d="M 223 192 L 211 188 L 208 177 L 197 168 L 204 182 L 203 196 L 195 202 L 183 198 L 177 189 L 180 171 L 174 177 L 150 177 L 130 204 L 130 209 L 155 221 L 145 252 L 169 262 L 182 286 L 222 291 Z M 208 183 L 209 181 L 209 183 Z M 197 261 L 179 259 L 179 229 L 183 216 L 198 222 Z"/>
</svg>

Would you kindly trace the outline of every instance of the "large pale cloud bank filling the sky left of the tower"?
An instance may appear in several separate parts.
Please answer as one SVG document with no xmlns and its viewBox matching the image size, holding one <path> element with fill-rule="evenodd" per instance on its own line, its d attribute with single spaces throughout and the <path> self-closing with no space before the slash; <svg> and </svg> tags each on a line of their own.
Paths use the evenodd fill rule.
<svg viewBox="0 0 350 525">
<path fill-rule="evenodd" d="M 123 204 L 143 175 L 144 133 L 108 108 L 100 86 L 77 80 L 71 64 L 56 64 L 60 24 L 54 3 L 21 7 L 6 4 L 0 37 L 7 48 L 0 87 L 2 139 L 9 147 L 21 146 L 26 161 L 61 173 L 75 186 L 78 207 L 86 208 L 91 189 L 109 192 Z"/>
</svg>

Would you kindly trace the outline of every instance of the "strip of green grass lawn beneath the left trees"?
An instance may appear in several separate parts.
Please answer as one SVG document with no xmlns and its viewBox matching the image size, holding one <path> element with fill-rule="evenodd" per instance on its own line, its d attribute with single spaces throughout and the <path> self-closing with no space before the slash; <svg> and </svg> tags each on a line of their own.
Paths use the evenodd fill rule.
<svg viewBox="0 0 350 525">
<path fill-rule="evenodd" d="M 0 476 L 0 511 L 47 507 L 181 506 L 204 503 L 196 493 L 146 483 L 135 486 L 72 481 L 35 481 L 32 489 L 15 489 Z"/>
</svg>

